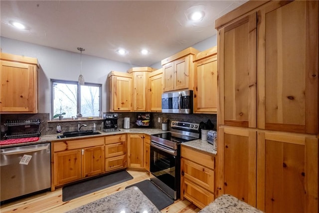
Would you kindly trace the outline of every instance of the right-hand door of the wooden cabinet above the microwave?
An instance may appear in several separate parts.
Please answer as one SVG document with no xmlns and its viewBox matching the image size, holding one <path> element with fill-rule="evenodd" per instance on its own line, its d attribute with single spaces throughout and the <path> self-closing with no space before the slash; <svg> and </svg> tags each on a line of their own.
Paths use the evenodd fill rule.
<svg viewBox="0 0 319 213">
<path fill-rule="evenodd" d="M 174 90 L 188 89 L 189 57 L 174 61 Z"/>
</svg>

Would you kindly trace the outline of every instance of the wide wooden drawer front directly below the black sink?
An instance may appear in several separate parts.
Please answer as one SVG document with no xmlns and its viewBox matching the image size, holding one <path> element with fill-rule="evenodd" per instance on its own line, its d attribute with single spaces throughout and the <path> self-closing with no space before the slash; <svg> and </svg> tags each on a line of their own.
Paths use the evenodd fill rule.
<svg viewBox="0 0 319 213">
<path fill-rule="evenodd" d="M 104 137 L 54 142 L 54 152 L 104 145 Z"/>
</svg>

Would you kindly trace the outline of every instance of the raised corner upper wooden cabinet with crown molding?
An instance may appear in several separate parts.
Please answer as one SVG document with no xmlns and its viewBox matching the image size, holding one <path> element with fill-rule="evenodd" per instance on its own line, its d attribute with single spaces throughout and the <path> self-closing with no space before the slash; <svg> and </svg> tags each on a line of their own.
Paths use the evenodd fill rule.
<svg viewBox="0 0 319 213">
<path fill-rule="evenodd" d="M 133 111 L 146 112 L 148 103 L 148 75 L 153 72 L 151 67 L 133 67 L 128 73 L 133 75 Z"/>
</svg>

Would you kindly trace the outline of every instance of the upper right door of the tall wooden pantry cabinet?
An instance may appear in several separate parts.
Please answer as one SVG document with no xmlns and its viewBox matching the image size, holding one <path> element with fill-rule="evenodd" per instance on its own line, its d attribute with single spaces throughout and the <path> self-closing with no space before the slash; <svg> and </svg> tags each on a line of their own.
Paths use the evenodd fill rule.
<svg viewBox="0 0 319 213">
<path fill-rule="evenodd" d="M 261 129 L 318 132 L 318 4 L 318 1 L 292 1 L 285 5 L 273 2 L 261 10 L 258 30 Z"/>
</svg>

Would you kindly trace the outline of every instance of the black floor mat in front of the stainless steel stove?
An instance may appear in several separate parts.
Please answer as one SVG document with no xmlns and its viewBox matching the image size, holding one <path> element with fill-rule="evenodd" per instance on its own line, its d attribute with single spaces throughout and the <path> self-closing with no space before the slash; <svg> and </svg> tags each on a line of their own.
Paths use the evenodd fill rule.
<svg viewBox="0 0 319 213">
<path fill-rule="evenodd" d="M 155 184 L 153 184 L 149 180 L 133 184 L 126 187 L 125 189 L 130 187 L 139 188 L 159 210 L 165 209 L 166 207 L 174 203 L 173 199 L 169 198 L 164 192 L 162 192 Z"/>
</svg>

